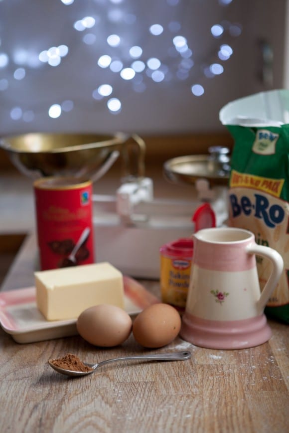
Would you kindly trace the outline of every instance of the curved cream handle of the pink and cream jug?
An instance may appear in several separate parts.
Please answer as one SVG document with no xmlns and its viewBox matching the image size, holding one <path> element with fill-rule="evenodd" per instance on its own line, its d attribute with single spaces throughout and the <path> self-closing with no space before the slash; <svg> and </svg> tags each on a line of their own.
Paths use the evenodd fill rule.
<svg viewBox="0 0 289 433">
<path fill-rule="evenodd" d="M 263 245 L 257 245 L 257 244 L 251 244 L 247 248 L 247 253 L 249 254 L 257 254 L 263 257 L 266 257 L 269 259 L 273 264 L 273 271 L 262 290 L 262 293 L 260 295 L 260 298 L 257 302 L 259 313 L 261 314 L 273 292 L 273 290 L 276 288 L 277 283 L 281 277 L 283 268 L 284 268 L 284 262 L 282 256 L 273 248 L 265 247 Z"/>
</svg>

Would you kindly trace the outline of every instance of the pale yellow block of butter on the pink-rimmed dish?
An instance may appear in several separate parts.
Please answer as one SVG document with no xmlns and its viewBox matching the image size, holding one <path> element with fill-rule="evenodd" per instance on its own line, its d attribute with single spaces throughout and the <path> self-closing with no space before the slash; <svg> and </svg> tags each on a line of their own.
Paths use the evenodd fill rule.
<svg viewBox="0 0 289 433">
<path fill-rule="evenodd" d="M 77 318 L 102 303 L 124 308 L 123 275 L 110 263 L 34 273 L 36 304 L 46 320 Z"/>
</svg>

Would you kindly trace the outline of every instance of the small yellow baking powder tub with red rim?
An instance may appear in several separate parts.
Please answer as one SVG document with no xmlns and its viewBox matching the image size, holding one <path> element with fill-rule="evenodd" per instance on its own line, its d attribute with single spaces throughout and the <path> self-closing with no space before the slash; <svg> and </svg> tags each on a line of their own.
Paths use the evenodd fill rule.
<svg viewBox="0 0 289 433">
<path fill-rule="evenodd" d="M 162 302 L 184 311 L 189 287 L 193 241 L 181 238 L 160 247 L 160 287 Z"/>
</svg>

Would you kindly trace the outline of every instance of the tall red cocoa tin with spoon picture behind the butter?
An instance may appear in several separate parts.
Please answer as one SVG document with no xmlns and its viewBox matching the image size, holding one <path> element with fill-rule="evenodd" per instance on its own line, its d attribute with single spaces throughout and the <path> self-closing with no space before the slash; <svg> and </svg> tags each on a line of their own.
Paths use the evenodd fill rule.
<svg viewBox="0 0 289 433">
<path fill-rule="evenodd" d="M 94 263 L 92 182 L 44 177 L 34 195 L 40 269 Z"/>
</svg>

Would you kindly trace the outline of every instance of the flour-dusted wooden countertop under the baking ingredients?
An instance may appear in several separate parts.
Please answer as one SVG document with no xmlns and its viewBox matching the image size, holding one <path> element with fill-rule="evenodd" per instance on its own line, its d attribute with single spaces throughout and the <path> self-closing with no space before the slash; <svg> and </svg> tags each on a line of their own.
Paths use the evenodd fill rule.
<svg viewBox="0 0 289 433">
<path fill-rule="evenodd" d="M 18 253 L 2 289 L 29 286 L 33 240 Z M 158 281 L 142 281 L 159 296 Z M 18 344 L 0 329 L 1 432 L 288 432 L 288 325 L 269 321 L 268 343 L 211 350 L 181 338 L 144 350 L 131 336 L 102 349 L 80 336 Z M 181 362 L 120 363 L 78 379 L 47 364 L 70 352 L 83 361 L 190 350 Z"/>
</svg>

